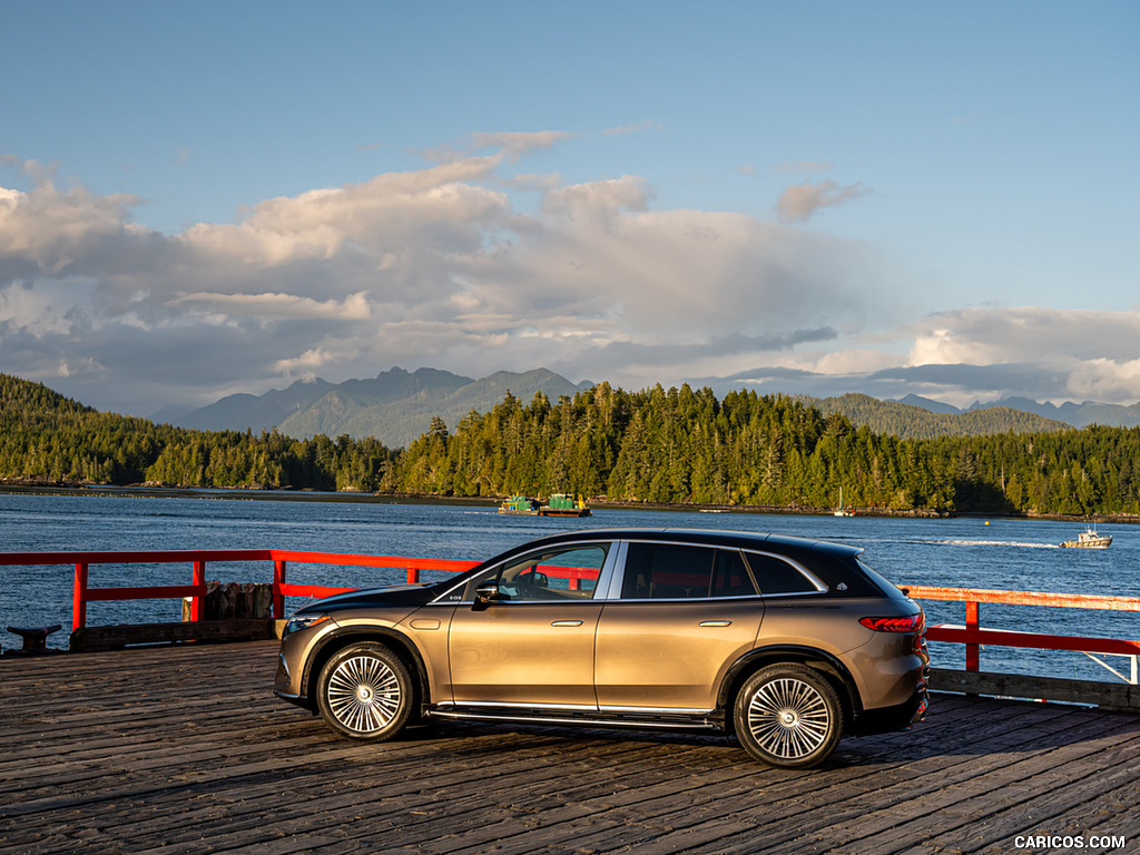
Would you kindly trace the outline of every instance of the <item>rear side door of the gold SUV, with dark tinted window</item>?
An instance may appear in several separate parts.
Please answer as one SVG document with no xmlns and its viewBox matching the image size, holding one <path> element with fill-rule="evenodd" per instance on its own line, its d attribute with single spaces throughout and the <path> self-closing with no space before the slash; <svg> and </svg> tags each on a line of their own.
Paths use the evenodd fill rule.
<svg viewBox="0 0 1140 855">
<path fill-rule="evenodd" d="M 651 542 L 630 542 L 624 552 L 619 593 L 597 626 L 600 708 L 711 710 L 764 616 L 740 552 Z"/>
</svg>

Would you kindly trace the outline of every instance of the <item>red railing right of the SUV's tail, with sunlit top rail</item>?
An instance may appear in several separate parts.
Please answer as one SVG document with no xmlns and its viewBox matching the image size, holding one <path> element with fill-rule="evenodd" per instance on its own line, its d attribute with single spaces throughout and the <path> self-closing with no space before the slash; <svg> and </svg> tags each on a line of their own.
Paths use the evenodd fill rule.
<svg viewBox="0 0 1140 855">
<path fill-rule="evenodd" d="M 927 628 L 927 640 L 964 644 L 966 670 L 968 671 L 977 671 L 980 668 L 980 645 L 983 644 L 1036 650 L 1072 650 L 1081 653 L 1140 656 L 1140 641 L 991 629 L 980 626 L 979 618 L 982 603 L 1135 612 L 1140 611 L 1140 597 L 1045 594 L 1032 591 L 987 591 L 984 588 L 940 588 L 925 585 L 905 585 L 903 589 L 915 600 L 966 603 L 964 625 L 936 624 Z"/>
</svg>

